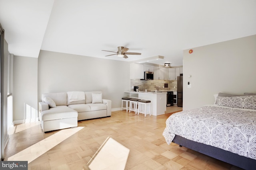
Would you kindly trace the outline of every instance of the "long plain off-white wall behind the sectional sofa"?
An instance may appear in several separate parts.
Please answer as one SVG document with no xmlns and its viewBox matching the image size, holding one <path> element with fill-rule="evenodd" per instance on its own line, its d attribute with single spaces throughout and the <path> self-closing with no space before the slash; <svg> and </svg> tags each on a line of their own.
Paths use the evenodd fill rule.
<svg viewBox="0 0 256 170">
<path fill-rule="evenodd" d="M 121 107 L 124 91 L 130 89 L 130 63 L 51 51 L 38 57 L 38 101 L 42 93 L 102 91 L 112 100 L 112 110 Z"/>
</svg>

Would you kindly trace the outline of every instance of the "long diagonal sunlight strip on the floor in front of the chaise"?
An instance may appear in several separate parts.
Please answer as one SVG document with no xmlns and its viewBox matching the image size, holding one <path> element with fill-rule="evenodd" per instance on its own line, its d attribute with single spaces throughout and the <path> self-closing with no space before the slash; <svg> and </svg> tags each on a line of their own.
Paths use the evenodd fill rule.
<svg viewBox="0 0 256 170">
<path fill-rule="evenodd" d="M 84 127 L 63 129 L 57 133 L 54 133 L 50 137 L 47 137 L 46 139 L 18 152 L 17 154 L 10 156 L 8 160 L 9 161 L 28 161 L 28 163 L 30 163 L 83 128 Z"/>
</svg>

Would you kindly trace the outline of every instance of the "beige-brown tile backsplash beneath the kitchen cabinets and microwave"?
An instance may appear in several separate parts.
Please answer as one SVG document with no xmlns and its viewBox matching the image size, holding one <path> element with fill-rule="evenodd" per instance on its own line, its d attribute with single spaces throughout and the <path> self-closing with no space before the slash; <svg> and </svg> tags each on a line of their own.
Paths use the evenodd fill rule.
<svg viewBox="0 0 256 170">
<path fill-rule="evenodd" d="M 168 84 L 168 88 L 164 88 L 164 84 Z M 177 91 L 177 80 L 139 80 L 139 79 L 131 79 L 131 85 L 138 86 L 139 91 L 155 91 L 159 86 L 160 90 L 164 91 Z M 131 88 L 131 91 L 134 89 Z"/>
</svg>

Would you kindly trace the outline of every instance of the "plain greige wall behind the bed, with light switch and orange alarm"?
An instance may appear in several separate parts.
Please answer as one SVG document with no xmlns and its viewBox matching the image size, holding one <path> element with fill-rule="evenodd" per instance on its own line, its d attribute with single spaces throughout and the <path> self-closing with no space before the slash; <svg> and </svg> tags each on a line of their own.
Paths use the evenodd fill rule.
<svg viewBox="0 0 256 170">
<path fill-rule="evenodd" d="M 183 57 L 184 110 L 214 104 L 219 92 L 256 92 L 256 35 L 192 49 Z"/>
</svg>

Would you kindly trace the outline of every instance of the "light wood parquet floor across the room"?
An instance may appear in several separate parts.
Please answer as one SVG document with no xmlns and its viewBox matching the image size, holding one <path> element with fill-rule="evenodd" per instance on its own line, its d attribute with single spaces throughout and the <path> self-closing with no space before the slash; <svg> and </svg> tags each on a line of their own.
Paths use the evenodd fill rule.
<svg viewBox="0 0 256 170">
<path fill-rule="evenodd" d="M 170 112 L 180 109 L 167 107 Z M 130 149 L 127 170 L 241 170 L 174 143 L 167 145 L 162 133 L 170 115 L 144 117 L 112 111 L 111 117 L 78 121 L 81 130 L 32 160 L 28 170 L 82 170 L 107 137 Z M 39 123 L 16 125 L 9 135 L 5 160 L 60 131 L 43 133 Z"/>
</svg>

